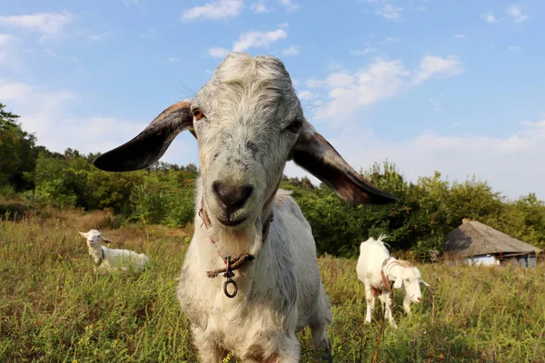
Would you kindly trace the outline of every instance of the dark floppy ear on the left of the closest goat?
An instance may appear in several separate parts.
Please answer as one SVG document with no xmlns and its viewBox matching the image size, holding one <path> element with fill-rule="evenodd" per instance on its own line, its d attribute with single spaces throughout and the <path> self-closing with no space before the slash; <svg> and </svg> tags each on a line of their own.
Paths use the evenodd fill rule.
<svg viewBox="0 0 545 363">
<path fill-rule="evenodd" d="M 106 172 L 131 172 L 147 168 L 163 156 L 183 130 L 189 130 L 195 136 L 191 100 L 174 103 L 133 140 L 96 158 L 94 166 Z"/>
</svg>

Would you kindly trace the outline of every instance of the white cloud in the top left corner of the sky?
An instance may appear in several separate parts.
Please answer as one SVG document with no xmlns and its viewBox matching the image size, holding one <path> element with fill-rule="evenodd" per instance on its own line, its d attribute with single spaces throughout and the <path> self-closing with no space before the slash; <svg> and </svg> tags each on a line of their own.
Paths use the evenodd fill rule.
<svg viewBox="0 0 545 363">
<path fill-rule="evenodd" d="M 64 26 L 70 24 L 74 17 L 69 12 L 38 13 L 34 15 L 0 16 L 0 26 L 42 34 L 46 41 L 63 34 Z"/>
</svg>

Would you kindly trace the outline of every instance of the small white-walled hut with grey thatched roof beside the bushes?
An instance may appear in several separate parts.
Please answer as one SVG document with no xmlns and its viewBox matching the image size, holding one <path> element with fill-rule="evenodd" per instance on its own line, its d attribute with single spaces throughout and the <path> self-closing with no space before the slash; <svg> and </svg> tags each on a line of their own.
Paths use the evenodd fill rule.
<svg viewBox="0 0 545 363">
<path fill-rule="evenodd" d="M 445 238 L 444 252 L 454 260 L 477 264 L 500 264 L 504 261 L 535 265 L 543 250 L 517 240 L 478 221 L 464 219 L 461 226 Z"/>
</svg>

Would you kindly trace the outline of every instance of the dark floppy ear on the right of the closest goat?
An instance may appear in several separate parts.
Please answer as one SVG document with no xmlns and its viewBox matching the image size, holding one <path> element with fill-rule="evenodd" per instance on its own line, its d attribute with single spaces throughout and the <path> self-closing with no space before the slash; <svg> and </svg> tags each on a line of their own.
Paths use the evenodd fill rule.
<svg viewBox="0 0 545 363">
<path fill-rule="evenodd" d="M 385 204 L 397 201 L 352 169 L 332 145 L 304 121 L 292 152 L 293 162 L 311 172 L 345 201 Z"/>
</svg>

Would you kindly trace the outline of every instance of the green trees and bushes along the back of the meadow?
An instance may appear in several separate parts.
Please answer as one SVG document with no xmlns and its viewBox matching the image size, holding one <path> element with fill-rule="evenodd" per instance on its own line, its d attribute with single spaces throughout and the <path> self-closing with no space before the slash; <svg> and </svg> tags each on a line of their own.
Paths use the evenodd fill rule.
<svg viewBox="0 0 545 363">
<path fill-rule="evenodd" d="M 71 149 L 61 154 L 35 143 L 18 116 L 0 104 L 0 214 L 9 211 L 11 218 L 20 218 L 45 207 L 106 210 L 114 213 L 115 226 L 191 228 L 195 165 L 159 163 L 140 172 L 102 172 L 92 164 L 96 154 Z M 352 206 L 324 185 L 284 178 L 282 188 L 301 205 L 321 254 L 354 257 L 362 240 L 386 233 L 394 250 L 433 260 L 445 234 L 466 217 L 545 248 L 545 203 L 531 192 L 510 201 L 475 177 L 449 182 L 440 172 L 408 182 L 391 162 L 374 164 L 362 174 L 400 201 Z"/>
</svg>

